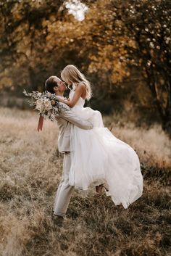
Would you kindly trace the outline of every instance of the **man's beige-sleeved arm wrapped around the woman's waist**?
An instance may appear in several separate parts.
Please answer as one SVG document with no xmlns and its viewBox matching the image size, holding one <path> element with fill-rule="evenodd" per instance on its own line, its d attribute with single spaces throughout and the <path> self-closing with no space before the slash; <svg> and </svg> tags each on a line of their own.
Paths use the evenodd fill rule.
<svg viewBox="0 0 171 256">
<path fill-rule="evenodd" d="M 93 125 L 88 120 L 82 120 L 80 117 L 75 115 L 72 110 L 68 111 L 61 111 L 58 118 L 63 118 L 64 120 L 67 120 L 68 122 L 72 123 L 73 125 L 78 126 L 81 129 L 84 130 L 90 130 L 93 128 Z"/>
</svg>

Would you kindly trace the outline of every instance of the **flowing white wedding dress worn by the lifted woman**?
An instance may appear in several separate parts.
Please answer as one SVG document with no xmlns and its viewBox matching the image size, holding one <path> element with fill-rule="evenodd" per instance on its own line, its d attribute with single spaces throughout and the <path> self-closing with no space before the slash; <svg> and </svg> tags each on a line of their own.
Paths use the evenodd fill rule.
<svg viewBox="0 0 171 256">
<path fill-rule="evenodd" d="M 73 88 L 70 99 L 74 93 Z M 72 125 L 69 183 L 83 190 L 103 183 L 114 204 L 127 208 L 141 197 L 143 191 L 138 155 L 131 146 L 104 128 L 99 111 L 83 107 L 84 104 L 85 100 L 80 97 L 72 111 L 82 119 L 90 120 L 93 129 L 83 130 Z"/>
</svg>

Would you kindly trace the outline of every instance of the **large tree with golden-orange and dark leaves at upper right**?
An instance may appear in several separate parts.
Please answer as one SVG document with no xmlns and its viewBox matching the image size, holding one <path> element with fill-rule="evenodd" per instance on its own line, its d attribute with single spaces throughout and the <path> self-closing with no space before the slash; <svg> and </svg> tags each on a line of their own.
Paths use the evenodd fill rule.
<svg viewBox="0 0 171 256">
<path fill-rule="evenodd" d="M 106 73 L 114 88 L 137 67 L 162 120 L 171 131 L 170 1 L 96 1 L 80 24 L 89 72 Z M 122 83 L 120 83 L 122 84 Z"/>
</svg>

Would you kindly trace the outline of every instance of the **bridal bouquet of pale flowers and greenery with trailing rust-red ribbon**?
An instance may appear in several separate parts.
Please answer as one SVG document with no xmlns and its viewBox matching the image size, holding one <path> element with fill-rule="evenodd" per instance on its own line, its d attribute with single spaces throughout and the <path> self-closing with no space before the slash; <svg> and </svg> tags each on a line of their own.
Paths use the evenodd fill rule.
<svg viewBox="0 0 171 256">
<path fill-rule="evenodd" d="M 59 103 L 56 95 L 51 94 L 49 91 L 43 91 L 42 93 L 39 91 L 32 91 L 32 93 L 28 93 L 24 90 L 23 94 L 32 97 L 32 100 L 29 100 L 28 103 L 30 106 L 34 107 L 34 110 L 38 110 L 40 114 L 38 131 L 42 131 L 44 117 L 48 117 L 51 121 L 54 121 L 61 110 L 68 110 L 62 103 Z"/>
</svg>

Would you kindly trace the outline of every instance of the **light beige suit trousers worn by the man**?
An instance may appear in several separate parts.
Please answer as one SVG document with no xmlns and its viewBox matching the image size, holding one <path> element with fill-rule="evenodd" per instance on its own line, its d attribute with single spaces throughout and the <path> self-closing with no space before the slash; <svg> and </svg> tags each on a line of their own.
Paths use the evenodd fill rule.
<svg viewBox="0 0 171 256">
<path fill-rule="evenodd" d="M 57 189 L 57 195 L 54 201 L 54 214 L 63 216 L 67 212 L 67 207 L 70 203 L 72 191 L 74 186 L 69 184 L 69 173 L 70 173 L 71 157 L 70 152 L 64 153 L 62 179 Z"/>
</svg>

